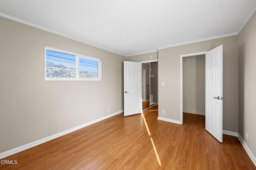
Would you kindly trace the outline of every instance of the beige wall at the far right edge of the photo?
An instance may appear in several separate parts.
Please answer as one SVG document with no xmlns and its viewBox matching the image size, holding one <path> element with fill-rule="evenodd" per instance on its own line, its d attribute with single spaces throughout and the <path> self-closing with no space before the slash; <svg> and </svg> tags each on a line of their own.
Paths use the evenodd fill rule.
<svg viewBox="0 0 256 170">
<path fill-rule="evenodd" d="M 256 156 L 256 14 L 238 35 L 239 134 Z M 248 132 L 248 139 L 246 139 Z"/>
</svg>

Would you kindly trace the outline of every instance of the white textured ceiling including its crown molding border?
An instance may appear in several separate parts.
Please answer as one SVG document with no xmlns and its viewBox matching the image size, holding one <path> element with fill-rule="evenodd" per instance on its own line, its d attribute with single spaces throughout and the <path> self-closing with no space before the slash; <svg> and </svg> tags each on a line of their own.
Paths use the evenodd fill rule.
<svg viewBox="0 0 256 170">
<path fill-rule="evenodd" d="M 124 56 L 237 35 L 256 0 L 0 0 L 0 16 Z"/>
</svg>

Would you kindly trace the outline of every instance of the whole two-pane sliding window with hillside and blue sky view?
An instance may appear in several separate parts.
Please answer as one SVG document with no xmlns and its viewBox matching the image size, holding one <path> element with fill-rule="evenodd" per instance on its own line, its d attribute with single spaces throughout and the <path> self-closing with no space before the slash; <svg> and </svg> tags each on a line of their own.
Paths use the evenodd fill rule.
<svg viewBox="0 0 256 170">
<path fill-rule="evenodd" d="M 100 80 L 100 59 L 45 48 L 46 80 Z"/>
</svg>

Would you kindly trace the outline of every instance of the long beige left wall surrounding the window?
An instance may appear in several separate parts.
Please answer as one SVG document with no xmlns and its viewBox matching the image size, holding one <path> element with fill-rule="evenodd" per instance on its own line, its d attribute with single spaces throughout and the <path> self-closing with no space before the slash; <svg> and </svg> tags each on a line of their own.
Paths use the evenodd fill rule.
<svg viewBox="0 0 256 170">
<path fill-rule="evenodd" d="M 1 17 L 0 25 L 0 153 L 122 111 L 125 57 Z M 45 81 L 45 46 L 100 58 L 102 81 Z"/>
</svg>

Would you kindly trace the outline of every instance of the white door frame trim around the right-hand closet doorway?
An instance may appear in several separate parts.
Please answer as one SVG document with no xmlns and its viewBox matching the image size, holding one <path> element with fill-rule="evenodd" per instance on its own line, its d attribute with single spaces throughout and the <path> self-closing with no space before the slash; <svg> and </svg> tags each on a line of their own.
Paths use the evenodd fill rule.
<svg viewBox="0 0 256 170">
<path fill-rule="evenodd" d="M 205 55 L 208 51 L 180 55 L 180 124 L 183 124 L 183 57 Z"/>
</svg>

